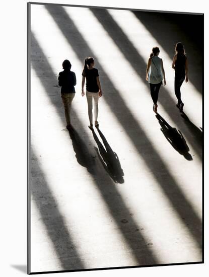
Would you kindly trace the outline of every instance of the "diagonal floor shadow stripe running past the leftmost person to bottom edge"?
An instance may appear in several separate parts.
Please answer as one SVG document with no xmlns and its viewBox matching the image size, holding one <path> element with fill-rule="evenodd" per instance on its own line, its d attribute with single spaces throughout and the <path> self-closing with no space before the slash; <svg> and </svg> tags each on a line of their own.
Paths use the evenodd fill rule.
<svg viewBox="0 0 209 277">
<path fill-rule="evenodd" d="M 57 7 L 56 7 L 57 10 Z M 60 119 L 64 121 L 64 115 L 63 112 L 63 107 L 61 105 L 61 101 L 57 101 L 57 99 L 60 97 L 57 92 L 54 91 L 53 85 L 57 83 L 57 77 L 55 76 L 54 72 L 52 71 L 52 68 L 50 64 L 47 61 L 46 56 L 43 54 L 43 51 L 38 44 L 38 41 L 36 40 L 33 32 L 31 33 L 31 39 L 32 39 L 32 50 L 34 48 L 33 54 L 32 54 L 32 66 L 36 72 L 37 76 L 42 75 L 45 73 L 44 78 L 41 78 L 41 84 L 43 88 L 45 89 L 46 95 L 49 97 L 51 100 L 51 103 L 54 105 L 56 108 L 56 112 L 59 115 Z M 39 55 L 38 60 L 37 59 L 37 54 Z M 75 140 L 77 139 L 77 142 L 75 142 L 75 152 L 77 155 L 78 162 L 86 166 L 86 161 L 89 159 L 89 152 L 91 153 L 92 151 L 85 146 L 84 149 L 88 148 L 88 151 L 84 151 L 84 155 L 87 155 L 88 157 L 81 158 L 80 155 L 82 153 L 78 150 L 79 145 L 77 144 L 80 141 L 80 138 L 78 136 L 84 136 L 81 134 L 85 133 L 85 130 L 83 128 L 83 125 L 81 121 L 79 120 L 79 117 L 76 113 L 76 111 L 73 108 L 72 105 L 72 114 L 74 115 L 73 117 L 77 118 L 77 128 L 79 130 L 79 133 L 74 129 L 74 134 L 72 133 L 72 139 Z M 76 135 L 75 135 L 76 134 Z M 85 137 L 85 142 L 88 141 L 89 138 L 86 135 Z M 74 142 L 73 142 L 74 143 Z M 82 160 L 82 161 L 81 161 Z M 85 162 L 84 162 L 85 161 Z M 87 170 L 88 170 L 88 166 Z M 98 171 L 98 172 L 97 172 Z M 103 170 L 104 171 L 104 170 Z M 90 170 L 90 173 L 92 171 Z M 154 253 L 152 250 L 149 249 L 149 246 L 147 245 L 147 241 L 144 238 L 144 235 L 138 228 L 138 224 L 132 219 L 132 216 L 129 212 L 128 207 L 126 206 L 124 200 L 122 199 L 121 195 L 118 193 L 117 189 L 113 185 L 111 179 L 105 176 L 102 171 L 99 171 L 98 168 L 97 170 L 93 170 L 95 175 L 97 175 L 97 178 L 95 178 L 94 175 L 94 183 L 96 187 L 100 190 L 103 199 L 105 203 L 107 204 L 107 207 L 109 209 L 109 212 L 111 216 L 113 217 L 115 223 L 117 224 L 118 229 L 120 230 L 121 234 L 123 235 L 125 242 L 130 246 L 130 248 L 133 250 L 132 253 L 138 261 L 139 265 L 153 265 L 153 264 L 159 264 L 158 259 L 155 257 Z M 101 174 L 101 176 L 100 176 Z M 37 199 L 38 200 L 38 199 Z M 44 210 L 42 211 L 42 216 L 45 217 Z M 123 223 L 122 220 L 126 219 L 127 224 Z M 44 221 L 47 229 L 50 228 L 48 225 L 48 222 L 45 220 Z M 51 230 L 53 232 L 53 230 Z M 54 235 L 55 236 L 55 235 Z M 52 238 L 53 239 L 53 238 Z M 59 254 L 59 253 L 58 253 Z M 117 265 L 115 265 L 117 267 Z M 124 265 L 125 266 L 125 265 Z M 69 269 L 68 269 L 69 270 Z"/>
</svg>

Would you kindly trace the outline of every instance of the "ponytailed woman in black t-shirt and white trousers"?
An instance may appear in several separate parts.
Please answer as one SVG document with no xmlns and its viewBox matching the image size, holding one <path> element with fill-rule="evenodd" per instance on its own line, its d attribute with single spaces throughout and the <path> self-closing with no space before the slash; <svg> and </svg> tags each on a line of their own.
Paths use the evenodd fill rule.
<svg viewBox="0 0 209 277">
<path fill-rule="evenodd" d="M 84 84 L 86 78 L 86 97 L 88 103 L 88 114 L 90 125 L 89 128 L 93 128 L 93 98 L 94 98 L 94 119 L 95 119 L 95 127 L 99 127 L 99 123 L 97 121 L 98 118 L 98 101 L 99 97 L 102 96 L 101 85 L 99 82 L 99 73 L 97 68 L 94 67 L 94 59 L 92 57 L 88 57 L 84 62 L 84 70 L 82 73 L 82 96 L 85 95 L 84 92 Z"/>
</svg>

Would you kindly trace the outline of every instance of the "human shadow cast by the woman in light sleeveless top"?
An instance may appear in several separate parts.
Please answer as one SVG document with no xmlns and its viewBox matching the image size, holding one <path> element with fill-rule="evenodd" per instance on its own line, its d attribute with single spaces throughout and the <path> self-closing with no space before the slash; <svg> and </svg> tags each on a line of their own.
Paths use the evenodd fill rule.
<svg viewBox="0 0 209 277">
<path fill-rule="evenodd" d="M 166 140 L 170 145 L 188 161 L 192 160 L 192 156 L 189 154 L 189 147 L 186 144 L 185 138 L 180 130 L 172 127 L 166 122 L 166 120 L 158 113 L 156 114 L 159 124 L 161 125 L 161 131 L 166 137 Z"/>
</svg>

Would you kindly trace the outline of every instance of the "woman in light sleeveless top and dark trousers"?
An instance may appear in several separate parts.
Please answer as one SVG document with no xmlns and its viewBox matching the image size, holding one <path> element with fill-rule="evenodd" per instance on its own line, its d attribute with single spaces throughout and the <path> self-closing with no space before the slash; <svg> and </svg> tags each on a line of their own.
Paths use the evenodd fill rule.
<svg viewBox="0 0 209 277">
<path fill-rule="evenodd" d="M 163 60 L 159 58 L 160 49 L 159 47 L 153 47 L 152 53 L 148 60 L 147 70 L 146 70 L 146 80 L 150 84 L 150 93 L 153 99 L 153 111 L 157 113 L 158 108 L 158 94 L 160 87 L 163 84 L 166 85 L 165 71 L 163 67 Z"/>
</svg>

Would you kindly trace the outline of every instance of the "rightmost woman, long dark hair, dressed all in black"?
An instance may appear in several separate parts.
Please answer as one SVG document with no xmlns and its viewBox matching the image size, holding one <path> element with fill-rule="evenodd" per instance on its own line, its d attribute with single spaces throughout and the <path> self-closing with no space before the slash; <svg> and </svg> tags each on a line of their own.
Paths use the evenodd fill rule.
<svg viewBox="0 0 209 277">
<path fill-rule="evenodd" d="M 181 85 L 183 84 L 185 77 L 186 83 L 188 82 L 188 60 L 185 54 L 184 46 L 181 42 L 178 42 L 175 47 L 176 54 L 173 57 L 172 68 L 175 70 L 175 82 L 174 89 L 175 95 L 178 99 L 177 107 L 180 112 L 183 111 L 184 103 L 181 100 Z"/>
</svg>

